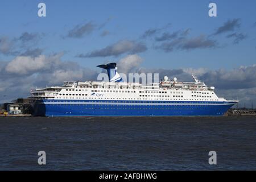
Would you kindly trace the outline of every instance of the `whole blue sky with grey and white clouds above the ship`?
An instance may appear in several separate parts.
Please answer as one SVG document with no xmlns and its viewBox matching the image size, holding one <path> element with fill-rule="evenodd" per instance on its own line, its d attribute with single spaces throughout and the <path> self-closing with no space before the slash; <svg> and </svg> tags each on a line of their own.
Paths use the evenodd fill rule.
<svg viewBox="0 0 256 182">
<path fill-rule="evenodd" d="M 46 4 L 46 17 L 38 4 Z M 217 5 L 210 17 L 209 3 Z M 191 81 L 256 105 L 256 1 L 1 1 L 0 102 L 63 81 L 122 73 Z M 5 97 L 3 97 L 5 96 Z"/>
</svg>

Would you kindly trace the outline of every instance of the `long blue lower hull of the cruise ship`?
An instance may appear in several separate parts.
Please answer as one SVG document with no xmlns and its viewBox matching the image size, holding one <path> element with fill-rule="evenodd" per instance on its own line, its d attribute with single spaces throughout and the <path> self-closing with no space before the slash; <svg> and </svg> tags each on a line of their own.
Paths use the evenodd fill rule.
<svg viewBox="0 0 256 182">
<path fill-rule="evenodd" d="M 217 116 L 237 102 L 37 100 L 34 116 Z"/>
</svg>

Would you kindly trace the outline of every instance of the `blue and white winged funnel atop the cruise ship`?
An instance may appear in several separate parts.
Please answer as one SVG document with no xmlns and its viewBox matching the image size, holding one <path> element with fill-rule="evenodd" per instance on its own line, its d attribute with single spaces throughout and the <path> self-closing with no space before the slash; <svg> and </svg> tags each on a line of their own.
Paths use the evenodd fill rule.
<svg viewBox="0 0 256 182">
<path fill-rule="evenodd" d="M 123 82 L 123 78 L 118 74 L 116 63 L 97 65 L 99 68 L 106 69 L 108 71 L 110 82 Z"/>
</svg>

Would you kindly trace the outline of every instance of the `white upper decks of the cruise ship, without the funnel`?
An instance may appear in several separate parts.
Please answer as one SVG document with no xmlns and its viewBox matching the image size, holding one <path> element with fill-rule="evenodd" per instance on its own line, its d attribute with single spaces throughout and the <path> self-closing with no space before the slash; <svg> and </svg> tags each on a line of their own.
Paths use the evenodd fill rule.
<svg viewBox="0 0 256 182">
<path fill-rule="evenodd" d="M 170 81 L 166 77 L 164 77 L 164 81 L 148 85 L 139 84 L 138 82 L 65 81 L 62 86 L 47 86 L 46 88 L 31 90 L 31 96 L 29 98 L 92 99 L 90 96 L 93 92 L 102 92 L 104 93 L 104 97 L 102 95 L 100 99 L 105 98 L 110 100 L 115 98 L 129 98 L 129 100 L 170 100 L 171 97 L 175 97 L 172 98 L 173 100 L 202 100 L 202 98 L 195 97 L 203 97 L 205 101 L 218 101 L 218 97 L 213 90 L 213 87 L 208 88 L 204 82 L 200 82 L 199 80 L 195 80 L 195 82 L 179 82 L 176 78 Z M 164 95 L 162 96 L 162 94 Z"/>
</svg>

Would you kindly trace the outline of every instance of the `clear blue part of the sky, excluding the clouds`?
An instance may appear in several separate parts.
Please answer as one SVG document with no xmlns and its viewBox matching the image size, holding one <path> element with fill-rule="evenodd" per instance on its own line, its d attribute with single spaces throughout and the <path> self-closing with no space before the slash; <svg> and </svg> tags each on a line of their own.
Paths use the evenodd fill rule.
<svg viewBox="0 0 256 182">
<path fill-rule="evenodd" d="M 37 16 L 39 2 L 46 3 L 47 17 Z M 210 2 L 217 4 L 217 17 L 208 16 Z M 255 1 L 1 1 L 1 35 L 18 37 L 22 32 L 40 32 L 45 35 L 39 41 L 44 53 L 65 51 L 64 60 L 77 61 L 93 68 L 107 60 L 119 60 L 119 56 L 79 58 L 76 55 L 101 49 L 119 40 L 138 40 L 150 28 L 163 28 L 174 32 L 191 28 L 191 36 L 213 34 L 228 19 L 241 19 L 240 32 L 247 38 L 232 44 L 225 35 L 215 36 L 220 48 L 176 50 L 164 52 L 154 49 L 152 39 L 139 40 L 147 46 L 140 53 L 146 68 L 226 68 L 255 63 L 256 40 L 253 27 L 256 21 Z M 78 24 L 92 22 L 96 28 L 82 38 L 62 38 Z M 100 36 L 109 31 L 108 36 Z M 2 56 L 2 60 L 13 57 Z"/>
</svg>

